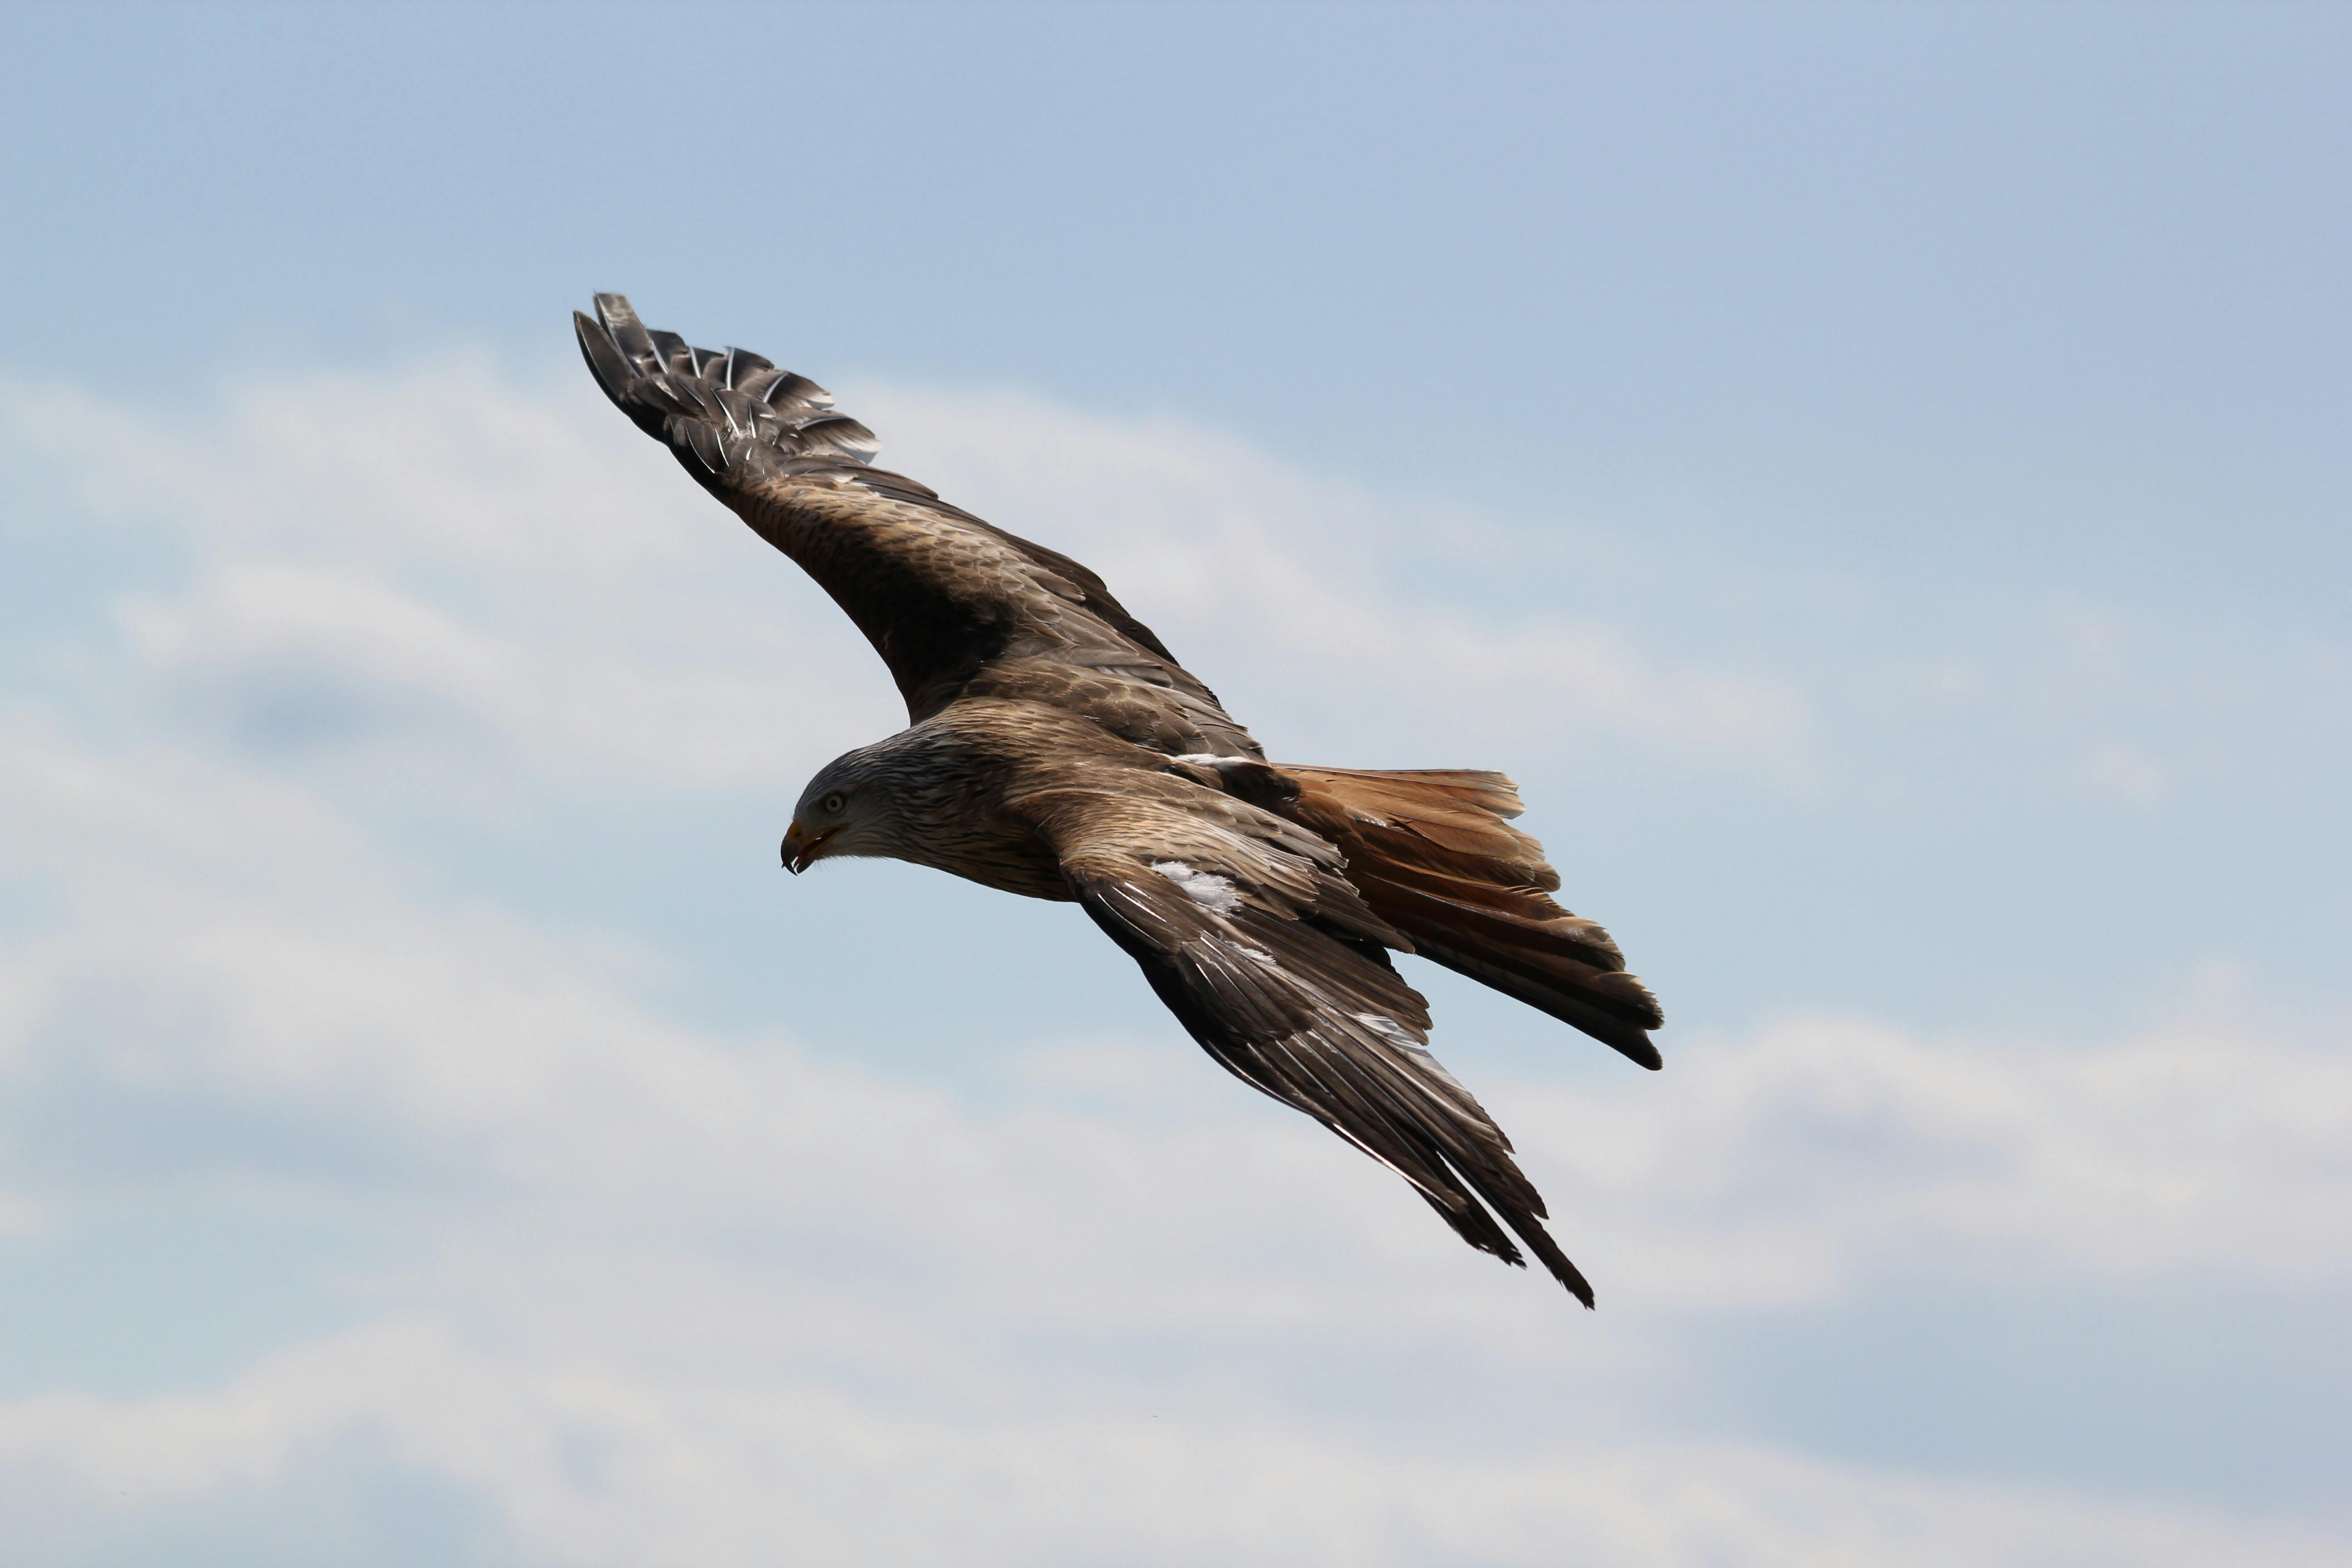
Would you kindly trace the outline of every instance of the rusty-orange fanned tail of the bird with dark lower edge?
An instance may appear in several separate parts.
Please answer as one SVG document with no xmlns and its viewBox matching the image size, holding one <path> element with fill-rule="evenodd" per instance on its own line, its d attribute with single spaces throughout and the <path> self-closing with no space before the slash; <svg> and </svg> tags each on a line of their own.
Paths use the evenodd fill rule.
<svg viewBox="0 0 2352 1568">
<path fill-rule="evenodd" d="M 1658 999 L 1625 973 L 1595 922 L 1550 893 L 1559 872 L 1512 827 L 1519 792 L 1503 773 L 1282 766 L 1289 811 L 1348 856 L 1348 879 L 1414 950 L 1658 1067 Z"/>
</svg>

